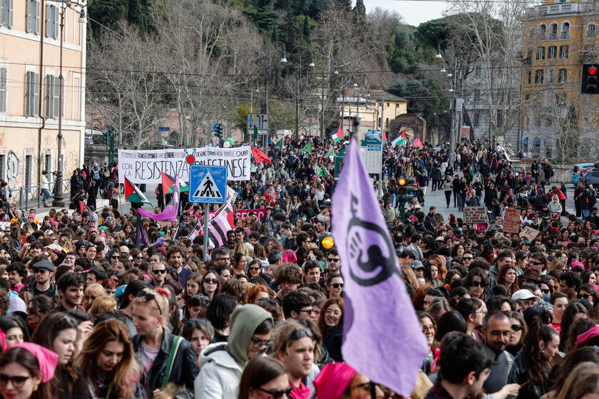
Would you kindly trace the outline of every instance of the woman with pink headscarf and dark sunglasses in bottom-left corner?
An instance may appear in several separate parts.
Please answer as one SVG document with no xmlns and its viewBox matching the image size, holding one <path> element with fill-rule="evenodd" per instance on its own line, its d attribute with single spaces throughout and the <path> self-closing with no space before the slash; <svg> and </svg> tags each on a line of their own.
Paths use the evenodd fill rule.
<svg viewBox="0 0 599 399">
<path fill-rule="evenodd" d="M 58 356 L 35 343 L 18 343 L 0 358 L 0 395 L 3 398 L 51 398 L 48 382 Z"/>
</svg>

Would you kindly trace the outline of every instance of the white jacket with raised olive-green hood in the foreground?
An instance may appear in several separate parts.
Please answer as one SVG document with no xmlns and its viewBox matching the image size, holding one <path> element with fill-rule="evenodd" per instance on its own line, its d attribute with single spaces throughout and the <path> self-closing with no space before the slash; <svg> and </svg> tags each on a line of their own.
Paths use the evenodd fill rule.
<svg viewBox="0 0 599 399">
<path fill-rule="evenodd" d="M 247 361 L 247 346 L 257 326 L 272 321 L 269 312 L 254 304 L 240 305 L 231 316 L 227 343 L 213 343 L 200 354 L 200 373 L 194 381 L 195 398 L 237 398 L 241 373 Z M 256 356 L 262 356 L 266 348 Z"/>
</svg>

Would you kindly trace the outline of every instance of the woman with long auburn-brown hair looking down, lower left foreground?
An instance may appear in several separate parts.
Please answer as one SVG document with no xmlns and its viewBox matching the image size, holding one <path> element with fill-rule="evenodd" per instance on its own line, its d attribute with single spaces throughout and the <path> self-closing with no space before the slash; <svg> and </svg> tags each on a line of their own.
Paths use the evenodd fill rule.
<svg viewBox="0 0 599 399">
<path fill-rule="evenodd" d="M 125 323 L 108 319 L 98 323 L 86 339 L 78 367 L 95 398 L 139 398 L 141 369 Z"/>
</svg>

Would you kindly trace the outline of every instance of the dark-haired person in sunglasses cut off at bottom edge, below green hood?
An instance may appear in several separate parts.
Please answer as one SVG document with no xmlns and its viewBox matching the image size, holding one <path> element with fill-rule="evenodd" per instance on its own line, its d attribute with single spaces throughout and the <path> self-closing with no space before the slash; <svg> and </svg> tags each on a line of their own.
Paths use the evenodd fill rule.
<svg viewBox="0 0 599 399">
<path fill-rule="evenodd" d="M 237 399 L 287 399 L 292 389 L 283 363 L 257 356 L 243 369 Z"/>
</svg>

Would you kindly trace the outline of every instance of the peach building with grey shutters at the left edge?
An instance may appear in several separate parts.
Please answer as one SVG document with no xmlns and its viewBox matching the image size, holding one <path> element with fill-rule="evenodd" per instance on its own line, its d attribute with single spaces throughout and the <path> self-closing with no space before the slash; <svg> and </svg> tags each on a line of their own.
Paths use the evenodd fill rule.
<svg viewBox="0 0 599 399">
<path fill-rule="evenodd" d="M 86 24 L 63 9 L 63 172 L 81 166 L 85 136 Z M 0 178 L 39 184 L 58 167 L 61 1 L 0 0 Z M 37 190 L 31 190 L 37 192 Z"/>
</svg>

